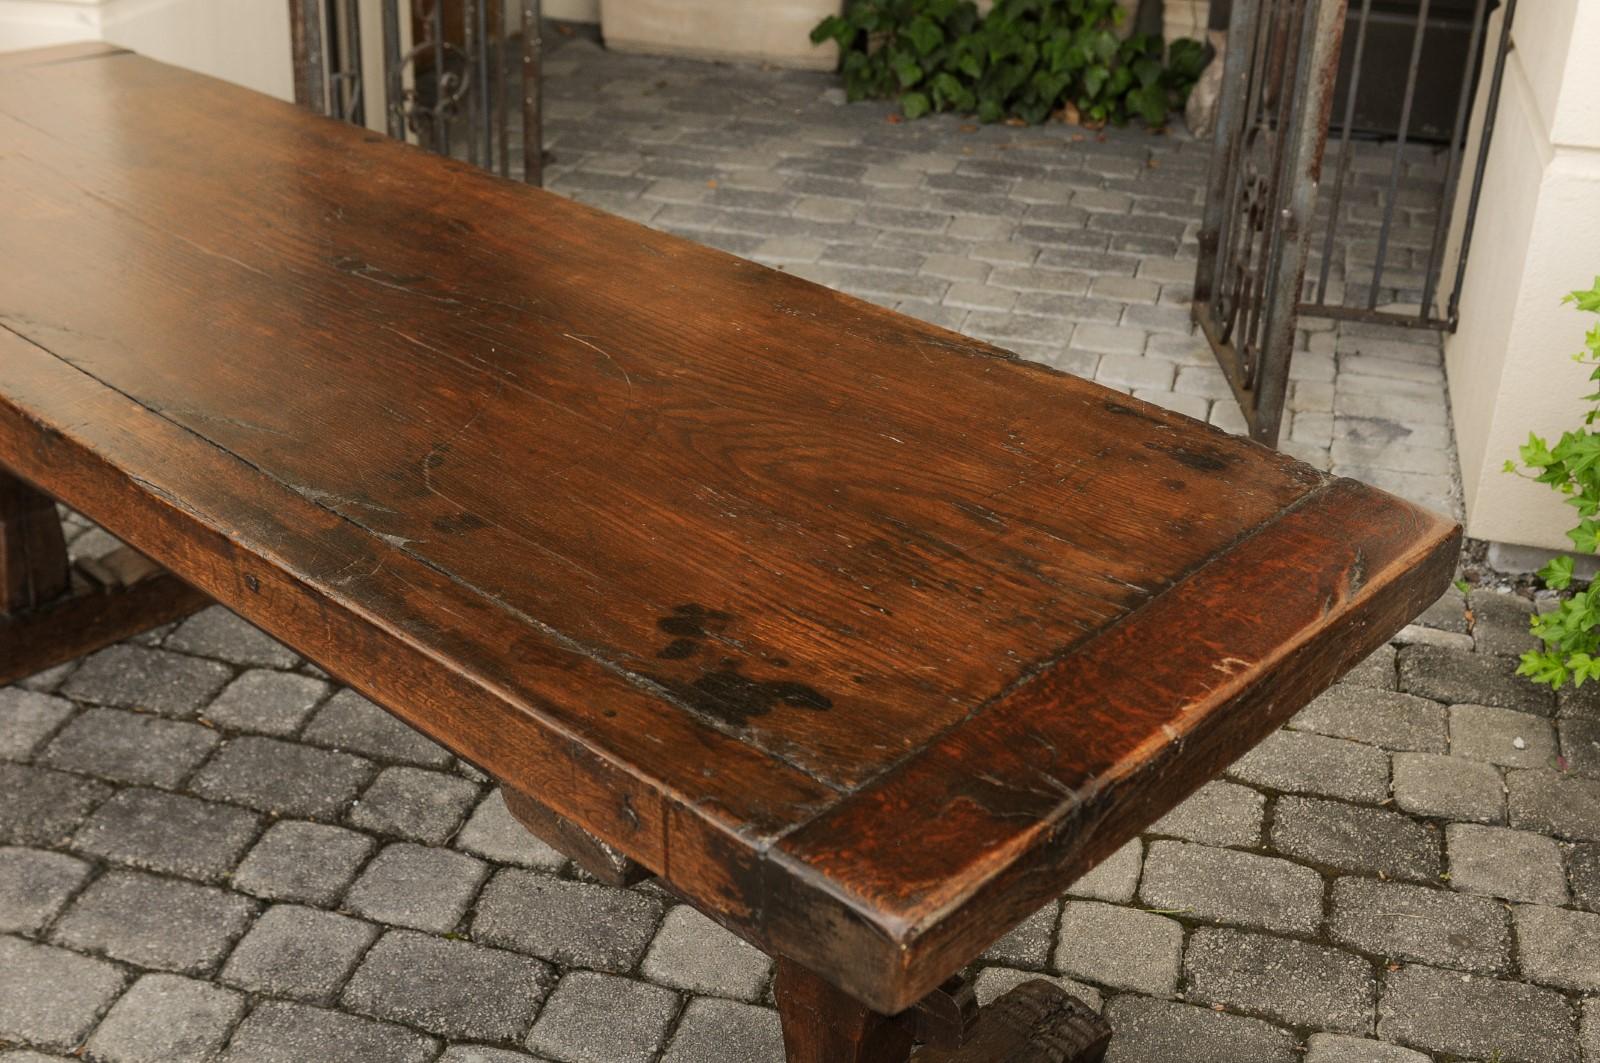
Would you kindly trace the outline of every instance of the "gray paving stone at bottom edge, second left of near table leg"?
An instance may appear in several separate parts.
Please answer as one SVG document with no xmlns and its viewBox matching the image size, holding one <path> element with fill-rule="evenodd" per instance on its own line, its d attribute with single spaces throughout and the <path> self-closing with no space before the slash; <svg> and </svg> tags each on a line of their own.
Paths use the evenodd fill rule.
<svg viewBox="0 0 1600 1063">
<path fill-rule="evenodd" d="M 555 986 L 528 1047 L 571 1063 L 648 1063 L 678 1007 L 670 989 L 574 970 Z"/>
</svg>

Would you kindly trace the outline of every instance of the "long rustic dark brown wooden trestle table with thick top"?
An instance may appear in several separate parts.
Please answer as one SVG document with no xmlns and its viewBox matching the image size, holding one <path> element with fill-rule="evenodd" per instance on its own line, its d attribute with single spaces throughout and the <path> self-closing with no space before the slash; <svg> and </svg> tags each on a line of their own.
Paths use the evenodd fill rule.
<svg viewBox="0 0 1600 1063">
<path fill-rule="evenodd" d="M 885 1015 L 1454 564 L 1382 491 L 130 53 L 0 58 L 0 679 L 200 600 L 126 557 L 54 597 L 45 491 L 781 957 L 795 1061 L 904 1060 Z"/>
</svg>

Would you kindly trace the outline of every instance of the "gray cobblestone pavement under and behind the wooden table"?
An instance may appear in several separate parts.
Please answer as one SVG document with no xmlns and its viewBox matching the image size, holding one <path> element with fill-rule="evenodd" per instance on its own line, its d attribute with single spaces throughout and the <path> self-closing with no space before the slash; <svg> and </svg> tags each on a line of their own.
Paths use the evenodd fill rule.
<svg viewBox="0 0 1600 1063">
<path fill-rule="evenodd" d="M 558 191 L 1237 427 L 1187 335 L 1195 144 L 550 66 Z M 1437 343 L 1302 346 L 1294 451 L 1451 506 Z M 1600 696 L 1512 676 L 1526 608 L 1448 594 L 997 943 L 979 996 L 1061 978 L 1112 1063 L 1600 1061 Z M 222 610 L 0 690 L 0 1063 L 781 1058 L 765 957 L 584 880 Z"/>
</svg>

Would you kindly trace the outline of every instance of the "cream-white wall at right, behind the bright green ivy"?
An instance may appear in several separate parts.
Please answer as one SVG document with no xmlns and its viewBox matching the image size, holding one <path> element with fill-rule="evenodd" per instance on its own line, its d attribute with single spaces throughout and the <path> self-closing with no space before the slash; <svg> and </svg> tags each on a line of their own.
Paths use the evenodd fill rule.
<svg viewBox="0 0 1600 1063">
<path fill-rule="evenodd" d="M 1525 3 L 1512 38 L 1445 357 L 1467 533 L 1566 549 L 1571 507 L 1501 467 L 1530 431 L 1576 427 L 1594 391 L 1568 357 L 1594 319 L 1560 299 L 1600 274 L 1600 3 Z"/>
</svg>

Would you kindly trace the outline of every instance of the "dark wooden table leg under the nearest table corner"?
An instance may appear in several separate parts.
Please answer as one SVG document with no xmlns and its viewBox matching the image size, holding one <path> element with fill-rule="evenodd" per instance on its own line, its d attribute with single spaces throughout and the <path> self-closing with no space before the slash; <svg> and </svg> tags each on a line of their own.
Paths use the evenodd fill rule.
<svg viewBox="0 0 1600 1063">
<path fill-rule="evenodd" d="M 789 1063 L 906 1063 L 910 1026 L 878 1015 L 792 961 L 778 959 L 778 1017 Z"/>
</svg>

